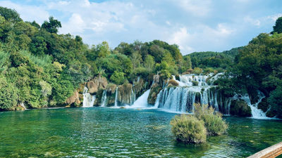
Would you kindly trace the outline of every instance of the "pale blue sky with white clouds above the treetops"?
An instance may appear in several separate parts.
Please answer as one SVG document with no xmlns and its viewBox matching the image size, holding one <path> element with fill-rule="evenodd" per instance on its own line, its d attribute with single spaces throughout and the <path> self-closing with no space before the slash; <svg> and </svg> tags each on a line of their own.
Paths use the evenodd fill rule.
<svg viewBox="0 0 282 158">
<path fill-rule="evenodd" d="M 60 34 L 79 35 L 90 46 L 159 39 L 183 55 L 245 46 L 282 16 L 281 0 L 0 0 L 0 6 L 40 25 L 54 16 Z"/>
</svg>

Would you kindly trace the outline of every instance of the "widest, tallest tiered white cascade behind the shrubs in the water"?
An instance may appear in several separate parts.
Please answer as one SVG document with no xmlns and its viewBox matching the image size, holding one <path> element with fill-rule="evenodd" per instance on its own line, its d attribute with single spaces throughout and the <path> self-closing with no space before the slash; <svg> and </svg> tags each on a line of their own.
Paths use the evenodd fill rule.
<svg viewBox="0 0 282 158">
<path fill-rule="evenodd" d="M 207 84 L 209 75 L 184 74 L 180 75 L 178 87 L 164 88 L 158 96 L 155 108 L 161 108 L 171 112 L 192 112 L 195 103 L 209 104 L 219 110 L 217 103 L 217 92 L 215 86 Z M 175 77 L 173 77 L 175 79 Z M 193 86 L 197 81 L 198 86 Z"/>
</svg>

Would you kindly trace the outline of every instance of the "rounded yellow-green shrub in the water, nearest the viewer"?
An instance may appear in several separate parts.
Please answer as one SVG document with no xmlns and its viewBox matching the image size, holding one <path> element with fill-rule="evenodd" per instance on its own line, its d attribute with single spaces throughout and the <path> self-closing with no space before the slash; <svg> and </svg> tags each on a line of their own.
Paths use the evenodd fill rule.
<svg viewBox="0 0 282 158">
<path fill-rule="evenodd" d="M 171 120 L 171 131 L 176 140 L 183 143 L 204 143 L 207 139 L 207 130 L 204 128 L 204 121 L 181 114 Z"/>
</svg>

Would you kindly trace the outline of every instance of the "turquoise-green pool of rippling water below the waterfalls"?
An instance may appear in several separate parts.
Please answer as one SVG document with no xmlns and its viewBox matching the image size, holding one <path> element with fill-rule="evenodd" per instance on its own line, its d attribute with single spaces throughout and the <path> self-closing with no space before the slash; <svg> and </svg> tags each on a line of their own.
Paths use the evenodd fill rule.
<svg viewBox="0 0 282 158">
<path fill-rule="evenodd" d="M 224 117 L 226 136 L 182 145 L 158 110 L 102 107 L 0 113 L 0 157 L 247 157 L 282 141 L 282 121 Z"/>
</svg>

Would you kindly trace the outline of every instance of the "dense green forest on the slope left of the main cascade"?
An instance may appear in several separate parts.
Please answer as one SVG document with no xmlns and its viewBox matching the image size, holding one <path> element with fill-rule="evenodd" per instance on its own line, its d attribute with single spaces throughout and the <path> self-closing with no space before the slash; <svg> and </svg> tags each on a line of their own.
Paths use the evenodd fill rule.
<svg viewBox="0 0 282 158">
<path fill-rule="evenodd" d="M 66 99 L 85 81 L 104 76 L 114 84 L 133 82 L 150 73 L 178 74 L 191 68 L 178 46 L 154 40 L 122 42 L 109 48 L 82 38 L 58 34 L 61 22 L 49 18 L 41 26 L 24 22 L 12 9 L 0 7 L 0 109 L 15 110 L 66 105 Z"/>
</svg>

